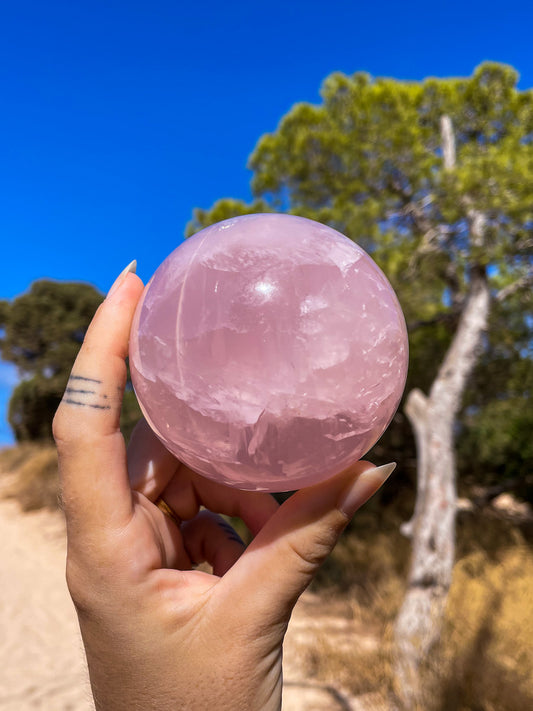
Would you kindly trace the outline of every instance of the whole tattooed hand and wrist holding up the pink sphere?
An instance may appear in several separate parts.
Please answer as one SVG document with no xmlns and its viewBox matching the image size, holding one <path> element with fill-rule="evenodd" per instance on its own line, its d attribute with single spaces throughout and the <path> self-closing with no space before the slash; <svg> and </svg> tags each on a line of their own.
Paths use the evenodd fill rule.
<svg viewBox="0 0 533 711">
<path fill-rule="evenodd" d="M 198 476 L 144 422 L 127 454 L 119 414 L 141 291 L 134 274 L 119 277 L 91 323 L 54 420 L 67 582 L 96 708 L 279 709 L 291 611 L 392 465 L 358 462 L 278 507 L 268 494 Z M 154 504 L 161 494 L 177 522 Z M 217 514 L 244 520 L 255 536 L 246 550 Z M 201 561 L 213 574 L 193 569 Z"/>
</svg>

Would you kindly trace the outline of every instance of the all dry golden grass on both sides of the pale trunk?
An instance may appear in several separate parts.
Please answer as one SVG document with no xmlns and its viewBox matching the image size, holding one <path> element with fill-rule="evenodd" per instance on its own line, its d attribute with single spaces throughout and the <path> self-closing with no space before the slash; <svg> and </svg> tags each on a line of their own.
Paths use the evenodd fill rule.
<svg viewBox="0 0 533 711">
<path fill-rule="evenodd" d="M 455 566 L 444 634 L 425 670 L 423 711 L 530 711 L 533 550 L 517 528 L 501 521 L 471 520 L 465 534 L 469 540 L 459 549 L 469 552 Z M 491 548 L 481 548 L 481 541 Z M 339 544 L 328 597 L 349 597 L 354 621 L 373 630 L 377 644 L 361 649 L 357 635 L 351 646 L 318 635 L 305 657 L 317 679 L 356 695 L 373 693 L 369 708 L 387 708 L 392 694 L 392 623 L 404 592 L 404 554 L 393 530 L 375 536 L 352 531 Z M 322 585 L 328 578 L 326 570 Z"/>
</svg>

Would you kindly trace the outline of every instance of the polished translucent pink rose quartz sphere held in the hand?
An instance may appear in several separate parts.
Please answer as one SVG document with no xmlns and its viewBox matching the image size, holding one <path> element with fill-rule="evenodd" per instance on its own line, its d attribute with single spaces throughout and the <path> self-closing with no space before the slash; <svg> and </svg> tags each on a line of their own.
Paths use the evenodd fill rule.
<svg viewBox="0 0 533 711">
<path fill-rule="evenodd" d="M 359 459 L 405 386 L 403 314 L 360 247 L 302 217 L 207 227 L 137 306 L 130 367 L 143 413 L 210 479 L 289 491 Z"/>
</svg>

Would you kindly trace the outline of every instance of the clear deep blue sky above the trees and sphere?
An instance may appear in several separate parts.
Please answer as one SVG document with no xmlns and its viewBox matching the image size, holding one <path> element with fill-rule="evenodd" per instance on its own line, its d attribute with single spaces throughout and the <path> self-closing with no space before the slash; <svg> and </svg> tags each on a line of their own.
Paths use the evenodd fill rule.
<svg viewBox="0 0 533 711">
<path fill-rule="evenodd" d="M 13 0 L 0 5 L 0 298 L 148 279 L 194 207 L 248 199 L 247 157 L 332 71 L 533 86 L 531 2 Z M 16 381 L 0 365 L 0 443 Z"/>
</svg>

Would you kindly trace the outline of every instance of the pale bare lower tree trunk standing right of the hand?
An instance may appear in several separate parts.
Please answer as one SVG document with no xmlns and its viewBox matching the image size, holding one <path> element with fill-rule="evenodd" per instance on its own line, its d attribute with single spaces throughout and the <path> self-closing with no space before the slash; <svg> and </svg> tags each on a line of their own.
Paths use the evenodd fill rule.
<svg viewBox="0 0 533 711">
<path fill-rule="evenodd" d="M 410 526 L 411 569 L 394 630 L 396 691 L 407 709 L 421 707 L 421 666 L 440 638 L 455 555 L 453 429 L 487 327 L 489 302 L 485 271 L 475 267 L 458 329 L 429 396 L 413 390 L 407 399 L 418 453 L 418 491 Z"/>
</svg>

